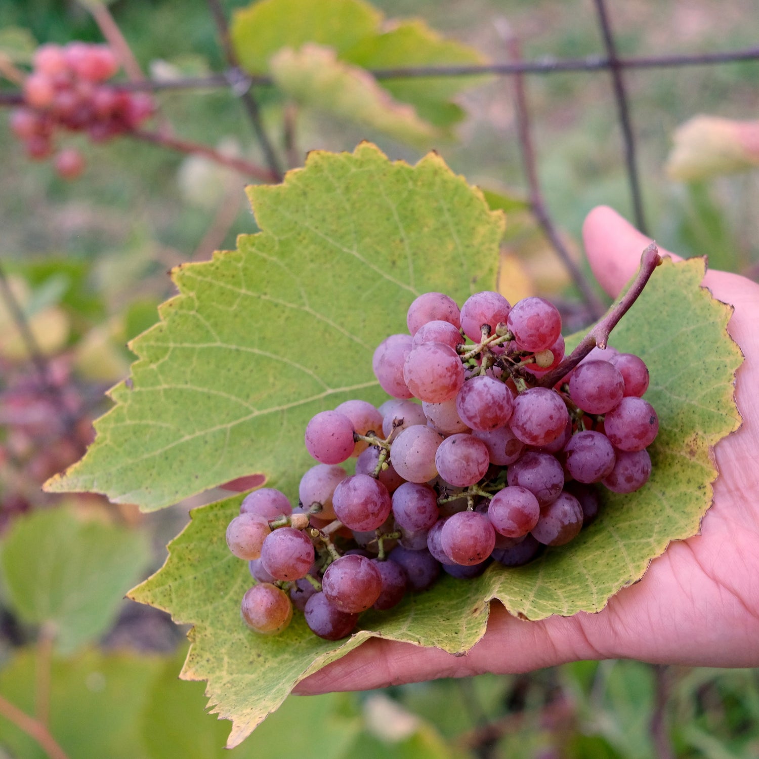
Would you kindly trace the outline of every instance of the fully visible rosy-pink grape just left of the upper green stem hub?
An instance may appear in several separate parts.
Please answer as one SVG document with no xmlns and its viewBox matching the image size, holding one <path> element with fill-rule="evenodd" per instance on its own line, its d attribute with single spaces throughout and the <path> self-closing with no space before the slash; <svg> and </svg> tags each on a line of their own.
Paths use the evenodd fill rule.
<svg viewBox="0 0 759 759">
<path fill-rule="evenodd" d="M 423 342 L 406 357 L 403 379 L 420 400 L 442 403 L 455 398 L 464 384 L 464 364 L 449 345 Z"/>
</svg>

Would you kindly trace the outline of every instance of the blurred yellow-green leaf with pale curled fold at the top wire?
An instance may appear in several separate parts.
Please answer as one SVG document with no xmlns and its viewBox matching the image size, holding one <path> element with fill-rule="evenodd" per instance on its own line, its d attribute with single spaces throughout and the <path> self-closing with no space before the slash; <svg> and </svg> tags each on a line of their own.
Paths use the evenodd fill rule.
<svg viewBox="0 0 759 759">
<path fill-rule="evenodd" d="M 422 20 L 382 22 L 361 0 L 263 0 L 235 13 L 231 39 L 246 71 L 272 74 L 297 102 L 429 146 L 464 116 L 451 99 L 483 77 L 376 80 L 366 69 L 477 64 L 483 57 Z"/>
</svg>

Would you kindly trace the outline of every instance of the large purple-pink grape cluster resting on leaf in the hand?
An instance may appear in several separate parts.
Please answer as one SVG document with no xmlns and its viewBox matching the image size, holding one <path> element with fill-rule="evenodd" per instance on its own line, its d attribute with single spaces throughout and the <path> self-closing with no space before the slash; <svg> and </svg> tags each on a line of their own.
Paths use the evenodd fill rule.
<svg viewBox="0 0 759 759">
<path fill-rule="evenodd" d="M 305 444 L 319 463 L 298 506 L 264 488 L 229 524 L 228 546 L 257 580 L 242 601 L 247 625 L 279 632 L 294 605 L 338 640 L 361 612 L 427 589 L 441 569 L 472 578 L 492 560 L 518 566 L 568 543 L 597 515 L 595 483 L 642 487 L 658 431 L 641 398 L 646 365 L 594 348 L 543 386 L 562 373 L 561 329 L 543 298 L 512 307 L 486 291 L 459 310 L 445 294 L 420 295 L 409 334 L 374 352 L 392 398 L 316 414 Z M 354 474 L 340 466 L 350 458 Z"/>
</svg>

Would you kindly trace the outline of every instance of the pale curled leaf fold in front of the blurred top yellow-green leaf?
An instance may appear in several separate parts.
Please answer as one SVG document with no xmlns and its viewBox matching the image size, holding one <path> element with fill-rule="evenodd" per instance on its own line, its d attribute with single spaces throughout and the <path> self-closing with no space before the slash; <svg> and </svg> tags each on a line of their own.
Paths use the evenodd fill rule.
<svg viewBox="0 0 759 759">
<path fill-rule="evenodd" d="M 310 43 L 298 52 L 285 48 L 272 58 L 271 69 L 280 89 L 303 106 L 420 147 L 444 136 L 421 120 L 411 106 L 393 100 L 363 68 L 339 61 L 330 48 Z"/>
</svg>

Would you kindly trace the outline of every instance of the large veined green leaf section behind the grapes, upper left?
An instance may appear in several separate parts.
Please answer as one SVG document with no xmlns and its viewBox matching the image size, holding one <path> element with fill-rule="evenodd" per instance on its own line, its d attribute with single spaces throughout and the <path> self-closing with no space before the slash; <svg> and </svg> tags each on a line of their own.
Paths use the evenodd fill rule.
<svg viewBox="0 0 759 759">
<path fill-rule="evenodd" d="M 411 167 L 368 143 L 313 152 L 249 194 L 260 234 L 175 270 L 180 294 L 131 343 L 140 360 L 96 442 L 49 490 L 150 511 L 260 471 L 294 494 L 307 421 L 356 395 L 381 402 L 371 357 L 411 301 L 495 285 L 502 215 L 435 154 Z"/>
</svg>

